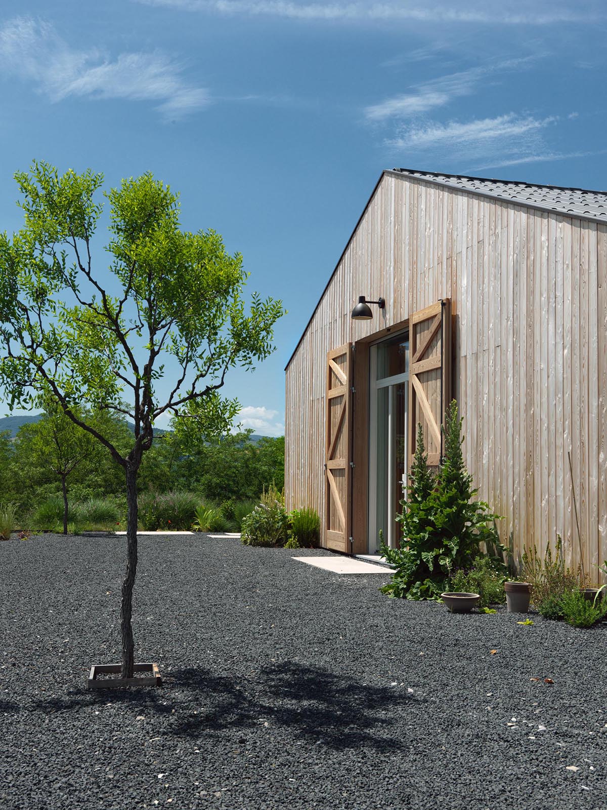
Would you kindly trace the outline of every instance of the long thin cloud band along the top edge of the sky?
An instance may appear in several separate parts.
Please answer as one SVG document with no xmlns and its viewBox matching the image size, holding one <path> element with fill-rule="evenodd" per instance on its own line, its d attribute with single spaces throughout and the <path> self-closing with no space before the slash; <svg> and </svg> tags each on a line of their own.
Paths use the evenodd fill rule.
<svg viewBox="0 0 607 810">
<path fill-rule="evenodd" d="M 164 6 L 183 11 L 215 12 L 222 15 L 273 16 L 309 20 L 410 20 L 421 23 L 503 23 L 507 25 L 550 25 L 602 19 L 601 12 L 580 3 L 536 0 L 511 3 L 498 0 L 468 0 L 425 5 L 421 2 L 299 2 L 299 0 L 136 0 L 147 6 Z"/>
</svg>

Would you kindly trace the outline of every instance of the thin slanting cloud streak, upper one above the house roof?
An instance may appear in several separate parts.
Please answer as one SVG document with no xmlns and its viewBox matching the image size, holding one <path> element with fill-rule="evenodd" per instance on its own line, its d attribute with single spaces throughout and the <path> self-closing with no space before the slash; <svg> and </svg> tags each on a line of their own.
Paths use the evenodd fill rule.
<svg viewBox="0 0 607 810">
<path fill-rule="evenodd" d="M 508 59 L 494 65 L 473 67 L 469 70 L 439 76 L 438 79 L 432 79 L 429 82 L 410 87 L 409 92 L 388 98 L 381 101 L 380 104 L 372 104 L 365 109 L 364 114 L 369 121 L 384 121 L 387 118 L 410 118 L 422 115 L 431 109 L 443 107 L 454 98 L 471 95 L 478 87 L 478 84 L 486 81 L 490 75 L 497 75 L 507 70 L 520 70 L 520 68 L 536 62 L 538 58 L 539 55 Z"/>
</svg>

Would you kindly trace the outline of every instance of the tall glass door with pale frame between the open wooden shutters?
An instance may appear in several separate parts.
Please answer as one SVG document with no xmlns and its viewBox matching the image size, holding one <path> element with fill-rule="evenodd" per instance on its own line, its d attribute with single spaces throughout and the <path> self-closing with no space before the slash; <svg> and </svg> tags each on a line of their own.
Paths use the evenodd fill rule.
<svg viewBox="0 0 607 810">
<path fill-rule="evenodd" d="M 376 554 L 380 532 L 390 548 L 400 540 L 396 516 L 407 472 L 407 335 L 397 335 L 372 346 L 370 372 L 368 552 Z"/>
</svg>

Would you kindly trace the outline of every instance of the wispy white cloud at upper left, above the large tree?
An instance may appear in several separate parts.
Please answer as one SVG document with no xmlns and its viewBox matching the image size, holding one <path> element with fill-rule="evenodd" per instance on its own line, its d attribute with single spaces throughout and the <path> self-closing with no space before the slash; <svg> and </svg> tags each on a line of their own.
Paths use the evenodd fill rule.
<svg viewBox="0 0 607 810">
<path fill-rule="evenodd" d="M 163 53 L 121 53 L 111 60 L 96 49 L 71 48 L 49 23 L 17 17 L 0 28 L 0 67 L 32 82 L 53 102 L 70 96 L 156 102 L 178 118 L 209 104 L 209 94 L 183 79 Z"/>
</svg>

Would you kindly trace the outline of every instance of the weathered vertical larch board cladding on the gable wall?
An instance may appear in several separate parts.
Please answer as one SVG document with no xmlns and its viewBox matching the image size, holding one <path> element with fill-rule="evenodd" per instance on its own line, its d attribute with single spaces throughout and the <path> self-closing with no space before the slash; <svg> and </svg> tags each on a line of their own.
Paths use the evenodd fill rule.
<svg viewBox="0 0 607 810">
<path fill-rule="evenodd" d="M 385 309 L 352 321 L 359 295 L 383 296 Z M 287 366 L 288 507 L 325 515 L 327 352 L 440 298 L 452 305 L 466 463 L 478 497 L 503 515 L 503 542 L 515 556 L 533 545 L 543 554 L 558 533 L 578 565 L 571 451 L 584 563 L 598 581 L 607 558 L 603 223 L 384 173 Z M 355 414 L 353 429 L 367 430 Z"/>
</svg>

